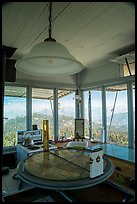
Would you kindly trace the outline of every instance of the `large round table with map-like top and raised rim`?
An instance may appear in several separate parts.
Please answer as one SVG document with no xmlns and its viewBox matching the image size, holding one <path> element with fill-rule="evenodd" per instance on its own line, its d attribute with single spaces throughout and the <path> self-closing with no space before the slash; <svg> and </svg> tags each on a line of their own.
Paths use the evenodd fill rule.
<svg viewBox="0 0 137 204">
<path fill-rule="evenodd" d="M 18 177 L 40 188 L 72 190 L 91 187 L 109 178 L 114 166 L 103 159 L 103 174 L 90 178 L 90 151 L 57 149 L 34 153 L 17 166 Z"/>
</svg>

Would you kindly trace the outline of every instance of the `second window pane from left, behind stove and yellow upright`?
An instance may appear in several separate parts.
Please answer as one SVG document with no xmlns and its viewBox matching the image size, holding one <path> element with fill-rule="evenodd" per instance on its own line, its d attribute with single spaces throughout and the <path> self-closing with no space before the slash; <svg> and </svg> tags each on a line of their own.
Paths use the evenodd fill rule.
<svg viewBox="0 0 137 204">
<path fill-rule="evenodd" d="M 32 88 L 32 124 L 43 130 L 43 120 L 49 121 L 49 139 L 54 139 L 53 90 Z"/>
</svg>

